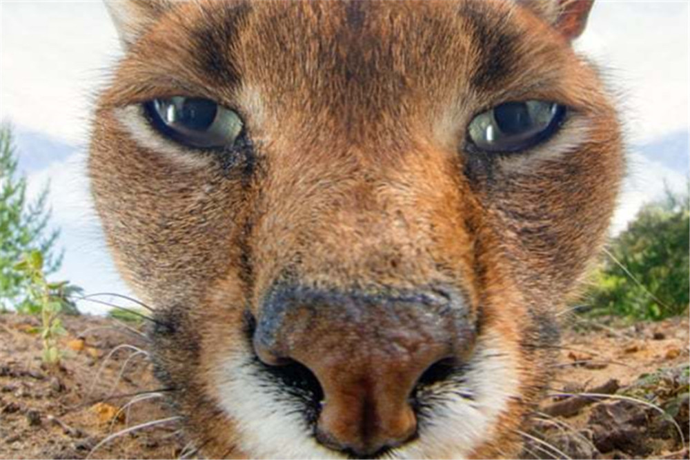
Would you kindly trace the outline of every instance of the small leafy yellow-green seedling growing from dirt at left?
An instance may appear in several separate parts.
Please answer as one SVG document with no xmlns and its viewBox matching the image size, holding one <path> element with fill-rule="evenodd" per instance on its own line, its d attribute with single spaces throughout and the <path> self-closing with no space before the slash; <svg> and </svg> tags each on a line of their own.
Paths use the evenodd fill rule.
<svg viewBox="0 0 690 460">
<path fill-rule="evenodd" d="M 57 337 L 65 333 L 60 314 L 65 306 L 72 302 L 70 295 L 80 294 L 81 289 L 71 286 L 67 281 L 48 282 L 43 271 L 43 254 L 40 250 L 24 254 L 21 261 L 14 265 L 14 269 L 28 281 L 26 301 L 30 303 L 32 310 L 40 312 L 43 361 L 55 365 L 62 356 L 57 346 Z"/>
</svg>

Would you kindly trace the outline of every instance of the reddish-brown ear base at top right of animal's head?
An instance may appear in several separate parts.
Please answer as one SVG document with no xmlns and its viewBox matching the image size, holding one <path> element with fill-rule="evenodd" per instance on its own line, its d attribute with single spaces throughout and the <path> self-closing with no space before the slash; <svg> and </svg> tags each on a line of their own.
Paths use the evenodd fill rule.
<svg viewBox="0 0 690 460">
<path fill-rule="evenodd" d="M 594 0 L 519 0 L 550 23 L 563 37 L 574 40 L 584 32 Z"/>
</svg>

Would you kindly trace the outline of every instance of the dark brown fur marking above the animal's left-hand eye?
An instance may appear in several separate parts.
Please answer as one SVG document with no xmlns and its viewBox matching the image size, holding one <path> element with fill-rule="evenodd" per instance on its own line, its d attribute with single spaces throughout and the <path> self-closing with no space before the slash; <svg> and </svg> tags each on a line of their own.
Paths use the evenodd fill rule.
<svg viewBox="0 0 690 460">
<path fill-rule="evenodd" d="M 249 3 L 219 2 L 219 8 L 206 14 L 206 23 L 193 31 L 197 59 L 201 69 L 213 81 L 231 86 L 239 81 L 239 72 L 230 59 L 230 49 L 237 37 L 239 23 L 244 21 L 251 9 Z M 217 17 L 218 10 L 222 17 Z"/>
</svg>

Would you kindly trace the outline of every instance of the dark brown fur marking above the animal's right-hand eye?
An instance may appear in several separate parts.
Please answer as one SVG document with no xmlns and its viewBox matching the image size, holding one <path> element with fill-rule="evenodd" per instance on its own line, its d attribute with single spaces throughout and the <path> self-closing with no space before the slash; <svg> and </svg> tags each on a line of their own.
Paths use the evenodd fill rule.
<svg viewBox="0 0 690 460">
<path fill-rule="evenodd" d="M 471 83 L 480 90 L 500 86 L 515 68 L 519 35 L 507 25 L 504 14 L 497 14 L 482 1 L 464 3 L 460 14 L 466 19 L 473 43 L 480 51 Z"/>
</svg>

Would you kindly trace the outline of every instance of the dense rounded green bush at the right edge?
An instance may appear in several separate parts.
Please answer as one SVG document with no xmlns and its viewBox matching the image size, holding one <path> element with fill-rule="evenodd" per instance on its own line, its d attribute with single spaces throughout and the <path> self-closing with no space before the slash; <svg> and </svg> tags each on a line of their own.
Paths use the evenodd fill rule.
<svg viewBox="0 0 690 460">
<path fill-rule="evenodd" d="M 690 200 L 667 193 L 611 241 L 587 292 L 590 312 L 634 319 L 681 314 L 690 301 Z"/>
</svg>

